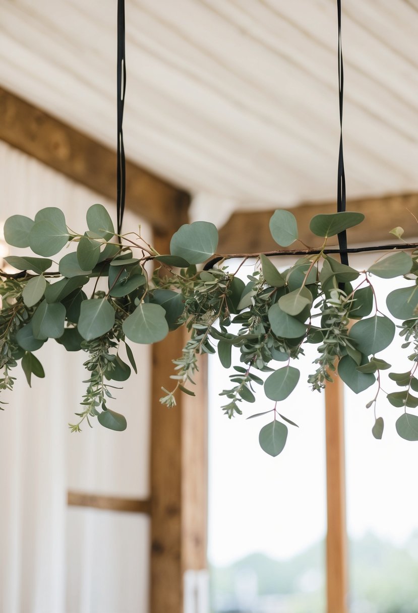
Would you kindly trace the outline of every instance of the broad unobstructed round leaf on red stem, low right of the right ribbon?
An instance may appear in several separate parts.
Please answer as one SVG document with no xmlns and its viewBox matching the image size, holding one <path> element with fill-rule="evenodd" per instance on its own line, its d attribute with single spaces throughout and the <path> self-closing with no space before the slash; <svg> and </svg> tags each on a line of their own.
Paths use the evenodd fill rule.
<svg viewBox="0 0 418 613">
<path fill-rule="evenodd" d="M 382 351 L 392 343 L 395 324 L 384 315 L 375 315 L 355 322 L 349 337 L 355 341 L 357 349 L 365 356 Z"/>
</svg>

